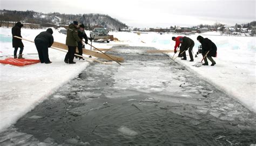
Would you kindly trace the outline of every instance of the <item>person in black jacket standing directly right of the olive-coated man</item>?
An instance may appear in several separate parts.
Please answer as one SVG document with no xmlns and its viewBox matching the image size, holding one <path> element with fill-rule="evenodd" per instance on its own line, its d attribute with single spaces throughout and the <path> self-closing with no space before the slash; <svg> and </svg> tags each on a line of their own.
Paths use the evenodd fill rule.
<svg viewBox="0 0 256 146">
<path fill-rule="evenodd" d="M 85 43 L 87 44 L 88 43 L 88 38 L 87 38 L 87 35 L 86 35 L 86 33 L 84 32 L 84 24 L 80 24 L 79 25 L 79 30 L 78 30 L 78 37 L 80 38 L 80 40 L 83 40 L 83 39 L 85 39 Z M 83 55 L 83 43 L 82 43 L 82 41 L 78 41 L 77 42 L 77 48 L 78 48 L 78 53 L 76 53 L 76 54 L 79 54 L 79 55 Z M 83 57 L 79 57 L 79 60 L 80 59 L 82 59 L 82 60 L 84 60 L 83 59 Z"/>
</svg>

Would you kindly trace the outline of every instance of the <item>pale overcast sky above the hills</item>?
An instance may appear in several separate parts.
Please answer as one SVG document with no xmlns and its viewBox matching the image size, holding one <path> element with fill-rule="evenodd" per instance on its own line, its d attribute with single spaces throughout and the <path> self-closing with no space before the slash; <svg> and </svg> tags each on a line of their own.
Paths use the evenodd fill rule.
<svg viewBox="0 0 256 146">
<path fill-rule="evenodd" d="M 0 0 L 0 9 L 102 13 L 133 27 L 235 25 L 255 20 L 255 0 Z"/>
</svg>

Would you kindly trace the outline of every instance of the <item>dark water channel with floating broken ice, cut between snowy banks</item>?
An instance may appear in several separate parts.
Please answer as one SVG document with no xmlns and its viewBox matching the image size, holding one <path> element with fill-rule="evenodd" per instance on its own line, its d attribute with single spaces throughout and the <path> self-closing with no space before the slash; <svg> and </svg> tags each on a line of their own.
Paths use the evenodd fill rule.
<svg viewBox="0 0 256 146">
<path fill-rule="evenodd" d="M 256 143 L 255 113 L 238 101 L 167 55 L 133 51 L 154 48 L 116 48 L 125 50 L 122 65 L 91 63 L 1 133 L 0 144 Z"/>
</svg>

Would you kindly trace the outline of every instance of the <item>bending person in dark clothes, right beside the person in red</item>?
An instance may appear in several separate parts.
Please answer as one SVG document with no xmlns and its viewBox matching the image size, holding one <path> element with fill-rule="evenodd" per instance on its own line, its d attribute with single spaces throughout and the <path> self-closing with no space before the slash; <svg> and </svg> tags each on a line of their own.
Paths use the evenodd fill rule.
<svg viewBox="0 0 256 146">
<path fill-rule="evenodd" d="M 194 61 L 193 54 L 192 54 L 192 49 L 194 47 L 194 41 L 188 37 L 183 37 L 183 38 L 180 38 L 180 42 L 181 42 L 180 52 L 181 53 L 184 52 L 183 54 L 180 54 L 183 56 L 183 59 L 181 59 L 181 60 L 187 60 L 186 50 L 188 49 L 188 53 L 190 54 L 190 61 L 191 62 Z"/>
</svg>

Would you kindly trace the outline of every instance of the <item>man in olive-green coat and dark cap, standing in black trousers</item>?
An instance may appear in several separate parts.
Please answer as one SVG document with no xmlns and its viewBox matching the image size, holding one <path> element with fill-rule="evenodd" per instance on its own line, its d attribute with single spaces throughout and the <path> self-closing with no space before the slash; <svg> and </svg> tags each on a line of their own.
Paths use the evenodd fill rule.
<svg viewBox="0 0 256 146">
<path fill-rule="evenodd" d="M 78 22 L 73 21 L 72 24 L 69 25 L 68 31 L 66 33 L 66 45 L 68 46 L 69 50 L 68 53 L 66 53 L 64 62 L 69 64 L 75 64 L 74 62 L 74 56 L 76 52 L 76 48 L 78 46 L 78 41 L 82 41 L 78 37 L 78 28 L 77 28 Z M 81 42 L 82 43 L 82 42 Z"/>
</svg>

